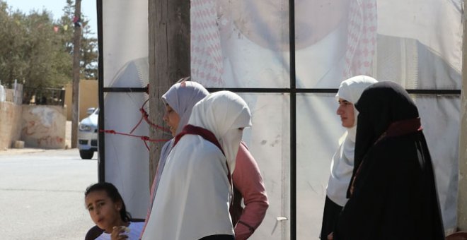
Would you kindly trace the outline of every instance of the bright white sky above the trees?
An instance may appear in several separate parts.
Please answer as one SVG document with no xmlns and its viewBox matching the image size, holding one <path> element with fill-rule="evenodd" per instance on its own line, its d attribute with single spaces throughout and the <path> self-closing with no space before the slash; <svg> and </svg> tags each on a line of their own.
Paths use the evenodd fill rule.
<svg viewBox="0 0 467 240">
<path fill-rule="evenodd" d="M 45 9 L 52 13 L 55 20 L 63 15 L 63 8 L 67 5 L 67 0 L 1 0 L 6 1 L 13 11 L 18 9 L 23 13 L 30 13 L 30 11 Z M 81 14 L 89 20 L 89 26 L 93 37 L 97 37 L 97 0 L 81 0 Z"/>
</svg>

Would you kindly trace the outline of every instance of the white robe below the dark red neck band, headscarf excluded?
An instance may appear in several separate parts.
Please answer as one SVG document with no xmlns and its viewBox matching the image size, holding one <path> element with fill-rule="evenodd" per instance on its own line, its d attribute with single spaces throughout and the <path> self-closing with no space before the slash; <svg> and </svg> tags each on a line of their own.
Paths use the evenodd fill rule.
<svg viewBox="0 0 467 240">
<path fill-rule="evenodd" d="M 200 136 L 185 135 L 168 155 L 143 240 L 233 235 L 226 157 Z"/>
</svg>

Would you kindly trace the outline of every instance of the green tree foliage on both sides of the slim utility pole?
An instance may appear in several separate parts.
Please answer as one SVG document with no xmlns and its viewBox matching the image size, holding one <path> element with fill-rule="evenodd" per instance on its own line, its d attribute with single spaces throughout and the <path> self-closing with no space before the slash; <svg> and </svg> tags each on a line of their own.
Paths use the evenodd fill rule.
<svg viewBox="0 0 467 240">
<path fill-rule="evenodd" d="M 72 79 L 74 6 L 67 0 L 64 15 L 55 21 L 45 10 L 28 15 L 11 11 L 0 0 L 0 80 L 15 79 L 26 88 L 62 88 Z M 83 19 L 83 17 L 81 17 Z M 97 40 L 83 21 L 81 76 L 97 78 Z M 87 31 L 87 33 L 86 33 Z"/>
</svg>

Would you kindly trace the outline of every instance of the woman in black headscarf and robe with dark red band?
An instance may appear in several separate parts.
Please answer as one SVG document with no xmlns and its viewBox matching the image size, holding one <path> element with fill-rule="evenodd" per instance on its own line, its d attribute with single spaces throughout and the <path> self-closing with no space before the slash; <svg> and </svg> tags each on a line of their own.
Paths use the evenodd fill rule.
<svg viewBox="0 0 467 240">
<path fill-rule="evenodd" d="M 362 93 L 354 173 L 333 239 L 444 239 L 432 160 L 418 110 L 393 82 Z"/>
</svg>

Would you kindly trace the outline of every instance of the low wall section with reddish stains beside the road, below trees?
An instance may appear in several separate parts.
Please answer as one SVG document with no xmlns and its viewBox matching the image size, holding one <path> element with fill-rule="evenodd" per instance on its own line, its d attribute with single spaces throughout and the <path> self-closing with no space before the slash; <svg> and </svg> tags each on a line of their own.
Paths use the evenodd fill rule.
<svg viewBox="0 0 467 240">
<path fill-rule="evenodd" d="M 52 105 L 23 105 L 21 140 L 28 148 L 65 147 L 66 109 Z"/>
</svg>

